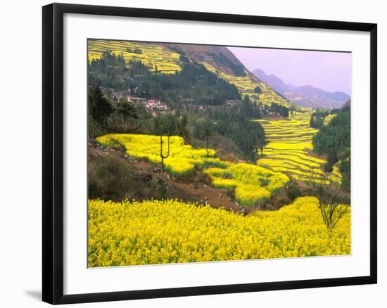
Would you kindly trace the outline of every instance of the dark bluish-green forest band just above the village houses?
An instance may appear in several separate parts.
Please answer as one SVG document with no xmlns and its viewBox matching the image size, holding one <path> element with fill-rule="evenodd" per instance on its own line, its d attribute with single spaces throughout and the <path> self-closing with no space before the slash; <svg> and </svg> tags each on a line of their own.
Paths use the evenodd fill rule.
<svg viewBox="0 0 387 308">
<path fill-rule="evenodd" d="M 240 99 L 234 84 L 218 78 L 199 63 L 184 63 L 181 72 L 159 74 L 157 67 L 148 68 L 139 60 L 125 63 L 122 56 L 106 51 L 99 60 L 89 65 L 89 84 L 106 89 L 125 91 L 142 98 L 155 98 L 170 105 L 184 103 L 189 98 L 194 104 L 222 105 L 225 100 Z"/>
</svg>

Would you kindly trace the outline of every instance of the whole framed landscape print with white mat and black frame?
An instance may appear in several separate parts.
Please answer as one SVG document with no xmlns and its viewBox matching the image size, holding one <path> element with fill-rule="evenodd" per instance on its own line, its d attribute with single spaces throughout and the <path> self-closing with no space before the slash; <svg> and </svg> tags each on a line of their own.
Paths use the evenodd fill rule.
<svg viewBox="0 0 387 308">
<path fill-rule="evenodd" d="M 376 283 L 376 24 L 43 7 L 43 300 Z"/>
</svg>

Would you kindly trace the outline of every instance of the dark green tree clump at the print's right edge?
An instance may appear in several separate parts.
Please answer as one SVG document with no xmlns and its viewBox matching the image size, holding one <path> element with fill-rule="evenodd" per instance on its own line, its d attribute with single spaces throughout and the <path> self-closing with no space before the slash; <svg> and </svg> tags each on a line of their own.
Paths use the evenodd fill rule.
<svg viewBox="0 0 387 308">
<path fill-rule="evenodd" d="M 341 186 L 350 191 L 350 107 L 338 111 L 336 117 L 313 136 L 312 142 L 317 154 L 326 154 L 326 172 L 331 172 L 338 162 L 343 176 Z"/>
</svg>

